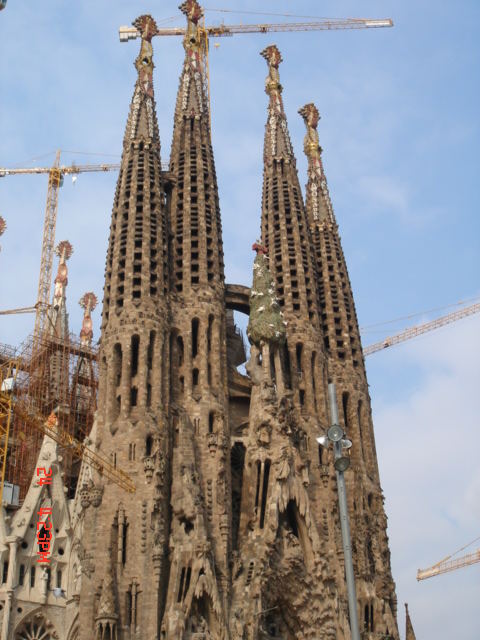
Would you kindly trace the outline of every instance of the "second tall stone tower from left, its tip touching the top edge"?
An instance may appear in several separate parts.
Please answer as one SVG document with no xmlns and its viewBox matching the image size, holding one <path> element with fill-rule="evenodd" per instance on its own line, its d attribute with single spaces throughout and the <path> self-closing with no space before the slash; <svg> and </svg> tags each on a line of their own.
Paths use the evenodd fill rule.
<svg viewBox="0 0 480 640">
<path fill-rule="evenodd" d="M 216 589 L 226 607 L 230 571 L 226 465 L 230 432 L 222 228 L 202 67 L 202 9 L 196 0 L 187 0 L 180 10 L 187 18 L 187 29 L 170 155 L 170 171 L 175 180 L 170 204 L 172 410 L 180 415 L 185 412 L 194 425 L 199 491 L 208 504 L 208 544 L 214 558 Z M 183 456 L 180 447 L 175 439 L 174 460 Z M 174 465 L 172 487 L 179 482 L 179 474 L 181 469 Z M 195 550 L 193 566 L 201 562 L 201 553 L 200 549 Z M 182 569 L 187 570 L 177 564 L 171 568 L 166 605 L 170 611 L 178 608 L 177 585 L 184 579 Z"/>
</svg>

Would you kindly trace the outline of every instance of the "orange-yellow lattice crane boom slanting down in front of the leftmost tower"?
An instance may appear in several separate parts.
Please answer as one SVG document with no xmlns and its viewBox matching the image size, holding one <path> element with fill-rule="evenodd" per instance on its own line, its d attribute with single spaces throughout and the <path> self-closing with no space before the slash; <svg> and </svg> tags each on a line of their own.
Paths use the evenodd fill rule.
<svg viewBox="0 0 480 640">
<path fill-rule="evenodd" d="M 13 414 L 24 424 L 27 424 L 44 435 L 49 436 L 74 458 L 83 460 L 95 469 L 101 476 L 115 482 L 128 493 L 135 493 L 135 485 L 128 474 L 117 469 L 105 456 L 93 451 L 84 442 L 79 442 L 69 433 L 63 431 L 54 413 L 45 419 L 38 411 L 32 409 L 22 400 L 15 398 L 16 373 L 21 369 L 15 360 L 11 360 L 0 367 L 0 504 L 5 480 L 8 437 Z"/>
</svg>

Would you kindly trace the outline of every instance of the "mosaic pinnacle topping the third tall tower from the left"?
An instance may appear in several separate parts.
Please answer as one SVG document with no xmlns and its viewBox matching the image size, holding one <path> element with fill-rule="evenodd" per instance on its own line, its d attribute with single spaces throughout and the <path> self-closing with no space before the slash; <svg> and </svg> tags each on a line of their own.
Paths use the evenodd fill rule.
<svg viewBox="0 0 480 640">
<path fill-rule="evenodd" d="M 287 118 L 283 108 L 282 85 L 278 67 L 282 56 L 276 45 L 266 47 L 261 53 L 268 64 L 268 76 L 265 79 L 265 93 L 269 96 L 268 124 L 265 135 L 264 157 L 271 163 L 273 158 L 284 158 L 295 162 L 292 143 L 288 134 Z"/>
</svg>

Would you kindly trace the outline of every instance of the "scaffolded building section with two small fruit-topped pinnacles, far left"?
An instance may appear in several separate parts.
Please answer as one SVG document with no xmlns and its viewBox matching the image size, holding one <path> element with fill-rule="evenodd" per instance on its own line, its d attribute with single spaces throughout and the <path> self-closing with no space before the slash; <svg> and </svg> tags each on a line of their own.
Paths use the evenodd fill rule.
<svg viewBox="0 0 480 640">
<path fill-rule="evenodd" d="M 46 419 L 55 413 L 58 428 L 66 436 L 83 441 L 90 433 L 96 409 L 98 385 L 97 349 L 91 344 L 90 313 L 97 300 L 93 293 L 83 296 L 84 328 L 80 336 L 69 332 L 66 309 L 68 283 L 66 261 L 72 247 L 68 241 L 57 247 L 58 272 L 51 305 L 39 309 L 42 316 L 36 333 L 14 349 L 0 345 L 0 366 L 6 391 L 15 396 L 4 451 L 4 481 L 13 485 L 14 502 L 23 501 L 35 475 L 35 465 L 43 433 L 25 412 Z M 9 388 L 10 387 L 10 388 Z M 68 449 L 63 452 L 63 479 L 67 495 L 73 498 L 80 469 Z M 5 497 L 4 497 L 5 499 Z"/>
</svg>

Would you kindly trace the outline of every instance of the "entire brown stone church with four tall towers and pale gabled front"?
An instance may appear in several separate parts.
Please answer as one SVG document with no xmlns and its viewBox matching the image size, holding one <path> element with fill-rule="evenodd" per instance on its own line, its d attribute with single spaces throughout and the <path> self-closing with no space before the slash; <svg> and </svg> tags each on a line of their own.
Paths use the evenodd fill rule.
<svg viewBox="0 0 480 640">
<path fill-rule="evenodd" d="M 330 425 L 333 381 L 353 443 L 345 477 L 361 637 L 398 640 L 368 384 L 318 110 L 299 109 L 304 200 L 282 58 L 266 47 L 253 283 L 226 284 L 202 11 L 196 0 L 180 9 L 185 61 L 168 171 L 152 80 L 157 27 L 150 16 L 134 23 L 138 79 L 113 203 L 89 434 L 136 490 L 84 461 L 69 497 L 62 453 L 45 436 L 37 466 L 48 463 L 52 484 L 34 477 L 20 508 L 3 509 L 0 521 L 1 639 L 349 640 L 333 454 L 317 443 Z M 59 280 L 60 318 L 64 286 Z M 234 311 L 249 315 L 248 362 Z M 35 559 L 45 505 L 55 528 L 48 575 Z"/>
</svg>

